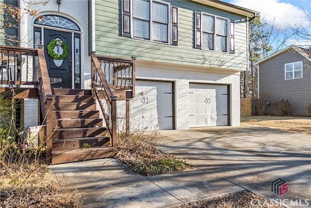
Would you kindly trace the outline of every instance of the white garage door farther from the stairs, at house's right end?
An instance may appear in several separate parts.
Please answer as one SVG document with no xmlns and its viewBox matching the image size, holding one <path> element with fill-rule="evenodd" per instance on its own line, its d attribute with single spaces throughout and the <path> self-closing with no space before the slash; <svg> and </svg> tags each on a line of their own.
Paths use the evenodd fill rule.
<svg viewBox="0 0 311 208">
<path fill-rule="evenodd" d="M 190 84 L 190 127 L 227 126 L 226 85 Z"/>
</svg>

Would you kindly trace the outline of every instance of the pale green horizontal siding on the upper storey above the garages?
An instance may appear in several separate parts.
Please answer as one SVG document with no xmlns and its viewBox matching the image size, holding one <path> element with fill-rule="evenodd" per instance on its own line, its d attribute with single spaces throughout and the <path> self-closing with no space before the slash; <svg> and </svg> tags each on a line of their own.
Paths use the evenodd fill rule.
<svg viewBox="0 0 311 208">
<path fill-rule="evenodd" d="M 178 6 L 178 46 L 121 36 L 121 1 L 95 1 L 97 54 L 189 65 L 246 69 L 246 22 L 236 23 L 236 53 L 222 53 L 193 48 L 194 11 L 204 11 L 225 18 L 243 17 L 191 1 L 169 1 Z"/>
</svg>

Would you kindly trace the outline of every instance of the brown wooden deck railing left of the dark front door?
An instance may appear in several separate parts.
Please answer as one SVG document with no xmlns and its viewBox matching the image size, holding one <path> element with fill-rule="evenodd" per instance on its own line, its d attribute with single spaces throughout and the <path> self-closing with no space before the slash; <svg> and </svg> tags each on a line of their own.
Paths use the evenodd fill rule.
<svg viewBox="0 0 311 208">
<path fill-rule="evenodd" d="M 38 88 L 45 131 L 47 158 L 52 152 L 52 90 L 42 46 L 38 49 L 0 46 L 0 87 Z"/>
</svg>

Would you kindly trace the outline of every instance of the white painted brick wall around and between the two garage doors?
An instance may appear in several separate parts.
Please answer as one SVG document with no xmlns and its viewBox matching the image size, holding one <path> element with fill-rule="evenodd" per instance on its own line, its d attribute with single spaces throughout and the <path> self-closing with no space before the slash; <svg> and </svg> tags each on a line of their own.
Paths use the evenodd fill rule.
<svg viewBox="0 0 311 208">
<path fill-rule="evenodd" d="M 218 74 L 137 66 L 136 78 L 173 81 L 175 83 L 175 124 L 176 129 L 189 129 L 189 83 L 230 85 L 231 126 L 240 125 L 240 73 Z"/>
</svg>

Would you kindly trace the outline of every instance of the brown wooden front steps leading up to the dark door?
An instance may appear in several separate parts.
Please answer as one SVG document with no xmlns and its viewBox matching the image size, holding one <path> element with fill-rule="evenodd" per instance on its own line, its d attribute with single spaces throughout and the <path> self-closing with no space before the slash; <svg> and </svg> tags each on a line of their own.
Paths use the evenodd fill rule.
<svg viewBox="0 0 311 208">
<path fill-rule="evenodd" d="M 114 154 L 91 90 L 52 89 L 52 164 Z"/>
</svg>

